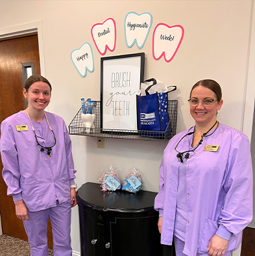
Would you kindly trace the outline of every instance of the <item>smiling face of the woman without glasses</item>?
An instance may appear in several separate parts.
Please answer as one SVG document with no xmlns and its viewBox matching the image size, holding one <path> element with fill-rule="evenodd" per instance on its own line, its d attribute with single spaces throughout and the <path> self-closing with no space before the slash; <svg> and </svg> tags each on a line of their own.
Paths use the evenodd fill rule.
<svg viewBox="0 0 255 256">
<path fill-rule="evenodd" d="M 29 87 L 28 90 L 23 89 L 23 95 L 27 98 L 29 106 L 27 107 L 31 111 L 44 110 L 51 99 L 51 88 L 49 84 L 38 81 Z"/>
</svg>

